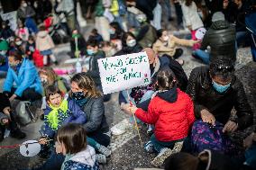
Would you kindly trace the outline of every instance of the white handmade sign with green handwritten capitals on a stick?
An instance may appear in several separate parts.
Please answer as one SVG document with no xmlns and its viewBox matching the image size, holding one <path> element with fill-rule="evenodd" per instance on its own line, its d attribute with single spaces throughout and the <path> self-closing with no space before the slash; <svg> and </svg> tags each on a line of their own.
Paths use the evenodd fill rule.
<svg viewBox="0 0 256 170">
<path fill-rule="evenodd" d="M 104 94 L 151 83 L 151 69 L 146 52 L 98 59 Z"/>
</svg>

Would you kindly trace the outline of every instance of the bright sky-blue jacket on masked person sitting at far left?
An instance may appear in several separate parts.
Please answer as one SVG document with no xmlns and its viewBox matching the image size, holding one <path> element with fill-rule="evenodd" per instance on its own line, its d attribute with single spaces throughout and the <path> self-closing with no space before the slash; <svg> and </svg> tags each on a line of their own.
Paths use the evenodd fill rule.
<svg viewBox="0 0 256 170">
<path fill-rule="evenodd" d="M 23 91 L 27 88 L 34 88 L 36 92 L 42 94 L 41 80 L 37 69 L 27 58 L 23 58 L 22 66 L 17 73 L 11 67 L 8 69 L 3 91 L 11 92 L 14 82 L 17 87 L 14 94 L 18 96 L 22 96 Z"/>
</svg>

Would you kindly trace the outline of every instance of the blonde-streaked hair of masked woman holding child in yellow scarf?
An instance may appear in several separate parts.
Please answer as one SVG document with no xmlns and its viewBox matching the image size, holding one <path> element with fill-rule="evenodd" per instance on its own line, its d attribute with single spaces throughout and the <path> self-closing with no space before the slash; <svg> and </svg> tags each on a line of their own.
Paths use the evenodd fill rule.
<svg viewBox="0 0 256 170">
<path fill-rule="evenodd" d="M 73 76 L 70 82 L 76 82 L 78 87 L 83 89 L 86 92 L 86 97 L 100 97 L 102 96 L 101 92 L 96 89 L 96 85 L 91 76 L 88 76 L 87 73 L 78 73 Z"/>
</svg>

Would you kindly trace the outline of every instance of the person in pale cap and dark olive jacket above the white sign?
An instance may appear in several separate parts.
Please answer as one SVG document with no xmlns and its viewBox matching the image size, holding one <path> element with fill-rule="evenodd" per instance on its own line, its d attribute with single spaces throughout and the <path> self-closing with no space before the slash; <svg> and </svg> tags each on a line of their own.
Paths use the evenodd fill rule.
<svg viewBox="0 0 256 170">
<path fill-rule="evenodd" d="M 142 48 L 151 48 L 153 43 L 158 39 L 157 31 L 149 22 L 147 22 L 145 14 L 138 14 L 136 19 L 141 24 L 136 40 Z"/>
</svg>

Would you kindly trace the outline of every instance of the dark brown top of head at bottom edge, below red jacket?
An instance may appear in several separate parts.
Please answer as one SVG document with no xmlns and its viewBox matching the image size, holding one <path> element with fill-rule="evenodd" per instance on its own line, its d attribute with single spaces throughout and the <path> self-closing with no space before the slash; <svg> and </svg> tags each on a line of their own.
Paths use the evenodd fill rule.
<svg viewBox="0 0 256 170">
<path fill-rule="evenodd" d="M 165 161 L 165 170 L 197 170 L 199 159 L 188 153 L 179 152 L 168 157 Z"/>
</svg>

